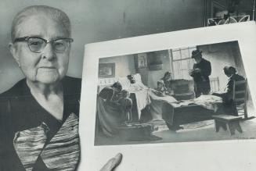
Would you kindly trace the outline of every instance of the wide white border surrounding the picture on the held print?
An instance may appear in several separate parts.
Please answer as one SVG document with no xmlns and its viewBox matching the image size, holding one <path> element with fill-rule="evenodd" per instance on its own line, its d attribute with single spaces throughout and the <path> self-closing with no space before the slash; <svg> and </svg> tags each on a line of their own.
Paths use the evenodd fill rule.
<svg viewBox="0 0 256 171">
<path fill-rule="evenodd" d="M 108 159 L 121 152 L 124 159 L 117 170 L 256 170 L 255 140 L 94 146 L 99 58 L 225 41 L 238 41 L 240 45 L 244 69 L 256 106 L 254 22 L 201 27 L 86 45 L 79 124 L 79 169 L 99 170 Z"/>
</svg>

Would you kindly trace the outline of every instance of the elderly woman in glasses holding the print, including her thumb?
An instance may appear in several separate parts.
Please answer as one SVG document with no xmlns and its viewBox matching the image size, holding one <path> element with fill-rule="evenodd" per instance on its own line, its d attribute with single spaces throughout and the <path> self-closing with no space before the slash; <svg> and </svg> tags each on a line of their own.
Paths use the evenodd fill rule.
<svg viewBox="0 0 256 171">
<path fill-rule="evenodd" d="M 11 36 L 25 78 L 0 95 L 0 170 L 74 170 L 81 80 L 66 76 L 70 20 L 59 9 L 30 6 L 15 16 Z"/>
</svg>

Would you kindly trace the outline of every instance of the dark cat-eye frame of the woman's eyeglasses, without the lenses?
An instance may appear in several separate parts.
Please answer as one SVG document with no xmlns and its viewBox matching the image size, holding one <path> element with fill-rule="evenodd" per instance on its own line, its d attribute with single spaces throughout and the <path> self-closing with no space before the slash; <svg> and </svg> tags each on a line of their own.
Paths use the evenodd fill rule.
<svg viewBox="0 0 256 171">
<path fill-rule="evenodd" d="M 52 41 L 47 41 L 47 40 L 45 40 L 44 38 L 41 38 L 41 37 L 26 36 L 26 37 L 17 37 L 17 38 L 15 38 L 14 41 L 13 41 L 13 44 L 15 44 L 16 42 L 27 41 L 27 46 L 28 46 L 29 50 L 31 50 L 30 46 L 28 45 L 28 40 L 29 40 L 30 38 L 39 38 L 39 39 L 41 39 L 42 41 L 45 42 L 45 47 L 46 47 L 46 45 L 47 45 L 48 43 L 51 43 L 51 44 L 52 44 L 52 42 L 54 42 L 54 41 L 68 40 L 69 45 L 70 45 L 70 43 L 72 43 L 72 42 L 74 41 L 73 38 L 68 38 L 68 37 L 61 37 L 61 38 L 53 39 Z M 45 47 L 44 47 L 43 49 L 45 49 Z M 68 47 L 67 47 L 67 48 L 68 48 Z M 66 51 L 67 51 L 67 48 L 66 48 L 65 51 L 63 51 L 63 52 L 66 52 Z M 41 51 L 43 51 L 43 49 L 42 49 Z M 34 52 L 34 53 L 41 53 L 41 51 L 40 51 L 40 52 L 34 52 L 34 51 L 31 50 L 31 52 Z M 56 51 L 55 51 L 55 52 L 56 52 Z M 63 53 L 63 52 L 56 52 L 56 53 Z"/>
</svg>

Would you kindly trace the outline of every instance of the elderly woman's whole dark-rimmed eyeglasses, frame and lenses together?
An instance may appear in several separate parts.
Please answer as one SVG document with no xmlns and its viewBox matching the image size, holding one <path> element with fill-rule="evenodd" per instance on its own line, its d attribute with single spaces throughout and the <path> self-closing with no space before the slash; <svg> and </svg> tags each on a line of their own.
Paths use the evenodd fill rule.
<svg viewBox="0 0 256 171">
<path fill-rule="evenodd" d="M 13 43 L 19 41 L 27 41 L 27 46 L 34 53 L 41 53 L 48 43 L 51 43 L 52 49 L 56 53 L 66 52 L 70 43 L 74 41 L 72 38 L 58 38 L 56 40 L 47 41 L 41 37 L 18 37 Z"/>
</svg>

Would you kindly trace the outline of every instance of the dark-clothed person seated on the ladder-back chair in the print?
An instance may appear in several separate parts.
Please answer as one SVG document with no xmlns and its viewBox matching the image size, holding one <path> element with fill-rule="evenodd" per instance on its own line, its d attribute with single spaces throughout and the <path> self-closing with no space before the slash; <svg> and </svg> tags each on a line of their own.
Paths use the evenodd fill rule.
<svg viewBox="0 0 256 171">
<path fill-rule="evenodd" d="M 225 75 L 229 77 L 228 84 L 225 87 L 224 93 L 213 93 L 213 95 L 219 96 L 222 98 L 223 103 L 227 109 L 226 112 L 228 114 L 231 114 L 233 116 L 238 116 L 236 105 L 233 102 L 233 84 L 235 81 L 245 80 L 244 77 L 240 76 L 236 73 L 236 68 L 233 66 L 225 66 L 223 69 Z M 239 87 L 236 87 L 236 91 L 244 90 L 246 87 L 244 85 L 240 85 Z M 244 97 L 240 97 L 244 98 Z"/>
</svg>

